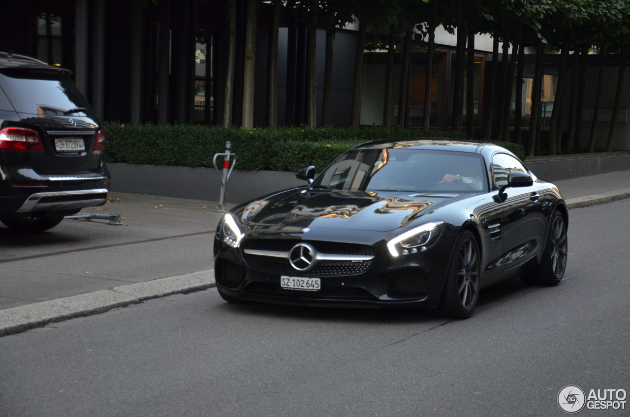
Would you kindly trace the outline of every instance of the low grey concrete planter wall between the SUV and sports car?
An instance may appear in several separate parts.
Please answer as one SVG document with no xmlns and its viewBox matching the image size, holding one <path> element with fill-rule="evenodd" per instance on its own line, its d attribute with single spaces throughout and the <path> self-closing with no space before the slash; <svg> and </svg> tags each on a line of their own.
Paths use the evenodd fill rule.
<svg viewBox="0 0 630 417">
<path fill-rule="evenodd" d="M 219 201 L 221 181 L 214 168 L 108 163 L 112 191 Z M 227 183 L 226 202 L 244 203 L 256 197 L 306 185 L 294 173 L 234 169 Z"/>
</svg>

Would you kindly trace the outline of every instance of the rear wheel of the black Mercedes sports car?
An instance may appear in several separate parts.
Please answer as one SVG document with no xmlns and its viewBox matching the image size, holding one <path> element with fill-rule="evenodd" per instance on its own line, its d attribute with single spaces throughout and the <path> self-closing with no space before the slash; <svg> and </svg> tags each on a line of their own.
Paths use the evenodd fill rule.
<svg viewBox="0 0 630 417">
<path fill-rule="evenodd" d="M 566 236 L 566 219 L 558 210 L 551 215 L 547 232 L 547 242 L 542 261 L 534 270 L 520 279 L 527 284 L 558 285 L 564 277 L 568 242 Z"/>
</svg>

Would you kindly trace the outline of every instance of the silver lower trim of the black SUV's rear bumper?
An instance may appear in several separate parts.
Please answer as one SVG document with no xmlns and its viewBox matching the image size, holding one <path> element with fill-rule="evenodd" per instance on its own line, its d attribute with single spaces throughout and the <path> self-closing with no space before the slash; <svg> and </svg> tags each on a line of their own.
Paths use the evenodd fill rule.
<svg viewBox="0 0 630 417">
<path fill-rule="evenodd" d="M 91 190 L 52 191 L 35 193 L 26 198 L 18 213 L 73 210 L 100 205 L 107 201 L 106 188 Z"/>
</svg>

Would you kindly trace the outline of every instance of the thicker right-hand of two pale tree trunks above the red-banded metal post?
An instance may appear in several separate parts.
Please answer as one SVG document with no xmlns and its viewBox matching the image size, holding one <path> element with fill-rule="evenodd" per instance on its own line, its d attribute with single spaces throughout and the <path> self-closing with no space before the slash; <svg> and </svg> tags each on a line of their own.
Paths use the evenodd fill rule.
<svg viewBox="0 0 630 417">
<path fill-rule="evenodd" d="M 254 127 L 254 80 L 256 71 L 256 6 L 258 0 L 247 0 L 245 21 L 245 56 L 243 64 L 243 120 L 245 129 Z"/>
</svg>

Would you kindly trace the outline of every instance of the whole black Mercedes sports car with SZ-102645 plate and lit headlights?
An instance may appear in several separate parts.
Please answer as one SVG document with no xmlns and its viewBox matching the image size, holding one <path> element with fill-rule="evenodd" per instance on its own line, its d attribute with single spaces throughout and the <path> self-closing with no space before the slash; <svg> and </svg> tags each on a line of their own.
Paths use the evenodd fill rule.
<svg viewBox="0 0 630 417">
<path fill-rule="evenodd" d="M 440 307 L 469 317 L 508 278 L 557 285 L 568 214 L 558 188 L 506 149 L 401 139 L 350 149 L 309 185 L 233 208 L 217 226 L 229 302 Z"/>
</svg>

